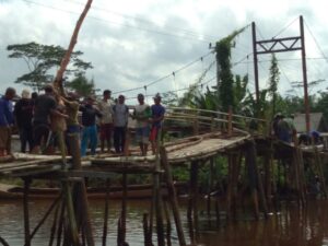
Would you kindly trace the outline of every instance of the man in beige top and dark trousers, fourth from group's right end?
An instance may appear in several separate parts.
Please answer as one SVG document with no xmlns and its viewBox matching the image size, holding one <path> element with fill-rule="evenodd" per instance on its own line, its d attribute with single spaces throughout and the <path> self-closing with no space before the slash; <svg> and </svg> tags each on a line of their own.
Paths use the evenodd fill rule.
<svg viewBox="0 0 328 246">
<path fill-rule="evenodd" d="M 103 117 L 101 119 L 101 150 L 105 151 L 105 141 L 107 142 L 107 152 L 110 152 L 112 148 L 112 131 L 113 131 L 113 104 L 110 102 L 109 90 L 105 90 L 103 93 L 103 99 L 98 102 L 98 108 Z"/>
</svg>

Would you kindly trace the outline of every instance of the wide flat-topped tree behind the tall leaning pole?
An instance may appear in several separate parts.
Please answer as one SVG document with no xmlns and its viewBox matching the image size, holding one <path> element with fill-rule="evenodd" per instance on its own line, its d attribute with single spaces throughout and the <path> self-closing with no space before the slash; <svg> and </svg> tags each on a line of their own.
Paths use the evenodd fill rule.
<svg viewBox="0 0 328 246">
<path fill-rule="evenodd" d="M 59 68 L 67 51 L 60 46 L 40 45 L 34 42 L 9 45 L 7 50 L 11 52 L 8 56 L 9 58 L 23 59 L 28 68 L 28 72 L 19 77 L 15 83 L 23 83 L 37 91 L 40 91 L 45 84 L 52 82 L 52 74 L 55 74 L 54 69 Z M 74 51 L 71 54 L 72 63 L 70 69 L 66 70 L 67 75 L 83 75 L 86 69 L 93 68 L 91 62 L 85 62 L 80 59 L 82 55 L 82 51 Z"/>
</svg>

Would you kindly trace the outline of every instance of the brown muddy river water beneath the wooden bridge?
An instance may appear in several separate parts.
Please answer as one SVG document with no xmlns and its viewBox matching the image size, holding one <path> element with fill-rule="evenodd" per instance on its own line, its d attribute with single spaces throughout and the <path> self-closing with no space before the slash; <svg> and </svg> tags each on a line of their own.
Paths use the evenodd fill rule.
<svg viewBox="0 0 328 246">
<path fill-rule="evenodd" d="M 102 242 L 102 226 L 104 201 L 93 200 L 91 214 L 94 227 L 96 245 Z M 34 229 L 50 201 L 32 201 L 31 227 Z M 117 218 L 120 203 L 110 203 L 109 238 L 107 245 L 116 245 Z M 127 242 L 131 246 L 143 245 L 142 214 L 148 211 L 148 201 L 129 201 L 127 221 Z M 204 246 L 328 246 L 328 202 L 314 201 L 305 210 L 300 211 L 296 206 L 283 206 L 277 215 L 270 215 L 268 220 L 254 221 L 251 215 L 239 214 L 237 222 L 216 225 L 215 221 L 209 221 L 204 211 L 200 211 L 200 232 L 196 235 L 198 244 Z M 181 208 L 184 227 L 188 242 L 188 226 L 186 209 Z M 46 223 L 33 239 L 33 246 L 48 244 L 50 220 Z M 21 201 L 0 201 L 0 236 L 10 246 L 24 245 L 23 209 Z M 173 245 L 177 244 L 176 234 L 172 235 Z"/>
</svg>

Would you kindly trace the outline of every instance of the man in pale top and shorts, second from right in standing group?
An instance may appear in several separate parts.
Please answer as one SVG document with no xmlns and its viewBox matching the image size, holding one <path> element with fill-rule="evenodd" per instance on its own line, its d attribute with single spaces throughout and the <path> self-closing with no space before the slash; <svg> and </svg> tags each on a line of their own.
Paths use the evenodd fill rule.
<svg viewBox="0 0 328 246">
<path fill-rule="evenodd" d="M 139 143 L 141 155 L 145 156 L 149 144 L 149 119 L 151 117 L 151 109 L 144 103 L 144 96 L 138 94 L 139 104 L 134 106 L 133 119 L 136 119 L 136 139 Z"/>
</svg>

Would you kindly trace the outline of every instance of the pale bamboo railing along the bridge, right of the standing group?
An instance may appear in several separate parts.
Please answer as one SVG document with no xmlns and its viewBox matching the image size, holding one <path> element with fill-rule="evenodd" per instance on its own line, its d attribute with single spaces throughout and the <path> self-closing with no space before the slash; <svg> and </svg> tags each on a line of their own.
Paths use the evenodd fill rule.
<svg viewBox="0 0 328 246">
<path fill-rule="evenodd" d="M 267 120 L 235 115 L 232 114 L 232 109 L 224 113 L 199 108 L 167 107 L 165 120 L 168 125 L 189 125 L 195 134 L 198 134 L 201 129 L 221 130 L 227 133 L 232 133 L 233 128 L 251 133 L 266 133 L 268 129 Z"/>
</svg>

